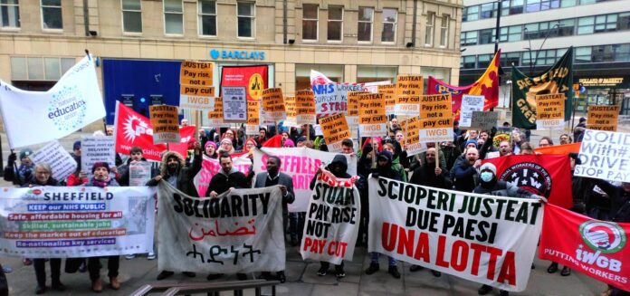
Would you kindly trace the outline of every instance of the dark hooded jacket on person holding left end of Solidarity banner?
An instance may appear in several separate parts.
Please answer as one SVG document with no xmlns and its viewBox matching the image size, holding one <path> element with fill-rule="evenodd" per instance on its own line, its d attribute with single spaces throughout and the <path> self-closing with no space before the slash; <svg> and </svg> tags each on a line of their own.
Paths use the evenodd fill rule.
<svg viewBox="0 0 630 296">
<path fill-rule="evenodd" d="M 201 170 L 201 161 L 203 157 L 201 153 L 198 156 L 193 158 L 193 164 L 190 167 L 186 167 L 186 160 L 182 158 L 182 156 L 175 151 L 168 151 L 162 157 L 162 163 L 159 167 L 159 175 L 164 178 L 164 181 L 167 181 L 168 175 L 168 167 L 167 167 L 167 159 L 169 157 L 176 157 L 179 162 L 179 166 L 173 173 L 173 176 L 177 177 L 177 190 L 185 193 L 188 196 L 199 196 L 196 191 L 195 184 L 193 183 L 193 178 L 195 178 L 196 174 Z M 157 186 L 157 181 L 155 179 L 150 179 L 147 182 L 147 186 Z"/>
</svg>

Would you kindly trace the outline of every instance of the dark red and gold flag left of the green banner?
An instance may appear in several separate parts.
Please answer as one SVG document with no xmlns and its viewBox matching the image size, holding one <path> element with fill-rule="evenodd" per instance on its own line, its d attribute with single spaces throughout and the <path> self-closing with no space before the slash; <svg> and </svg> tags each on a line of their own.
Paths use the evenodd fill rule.
<svg viewBox="0 0 630 296">
<path fill-rule="evenodd" d="M 453 119 L 459 119 L 464 94 L 484 96 L 483 110 L 490 110 L 499 105 L 499 61 L 501 50 L 494 55 L 488 69 L 477 81 L 467 86 L 454 86 L 444 81 L 438 81 L 429 76 L 426 94 L 451 94 L 453 98 Z"/>
</svg>

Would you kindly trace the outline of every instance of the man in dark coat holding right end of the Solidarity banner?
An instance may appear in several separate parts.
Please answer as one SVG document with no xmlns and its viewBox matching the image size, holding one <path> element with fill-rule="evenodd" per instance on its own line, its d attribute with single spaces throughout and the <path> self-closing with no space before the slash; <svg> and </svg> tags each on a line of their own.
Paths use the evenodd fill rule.
<svg viewBox="0 0 630 296">
<path fill-rule="evenodd" d="M 282 229 L 287 229 L 287 221 L 289 216 L 288 204 L 292 204 L 295 200 L 293 194 L 293 179 L 291 176 L 280 172 L 282 166 L 282 160 L 276 156 L 270 156 L 267 158 L 267 171 L 262 172 L 256 176 L 254 188 L 262 188 L 269 186 L 280 186 L 282 190 Z M 265 280 L 278 280 L 280 282 L 286 282 L 287 277 L 284 275 L 284 271 L 277 272 L 276 277 L 272 277 L 270 272 L 262 272 L 263 279 Z"/>
</svg>

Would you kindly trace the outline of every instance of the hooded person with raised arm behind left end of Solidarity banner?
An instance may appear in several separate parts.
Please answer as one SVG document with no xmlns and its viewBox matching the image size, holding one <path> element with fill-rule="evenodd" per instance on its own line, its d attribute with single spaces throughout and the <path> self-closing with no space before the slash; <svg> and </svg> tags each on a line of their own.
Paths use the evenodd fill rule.
<svg viewBox="0 0 630 296">
<path fill-rule="evenodd" d="M 193 178 L 201 170 L 201 143 L 195 142 L 195 152 L 193 163 L 190 167 L 186 167 L 185 159 L 175 151 L 168 151 L 162 156 L 162 163 L 159 167 L 159 175 L 153 177 L 147 182 L 147 186 L 157 186 L 157 183 L 164 179 L 170 185 L 177 188 L 177 190 L 183 192 L 188 196 L 199 196 L 196 191 Z M 187 277 L 195 277 L 195 272 L 182 272 Z M 171 271 L 162 271 L 157 274 L 157 281 L 166 279 L 167 277 L 175 274 Z"/>
</svg>

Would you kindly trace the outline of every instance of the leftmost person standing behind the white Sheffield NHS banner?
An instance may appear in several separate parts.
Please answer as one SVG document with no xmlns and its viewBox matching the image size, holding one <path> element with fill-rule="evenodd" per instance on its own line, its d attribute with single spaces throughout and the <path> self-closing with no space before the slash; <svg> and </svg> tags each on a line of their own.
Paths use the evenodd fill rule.
<svg viewBox="0 0 630 296">
<path fill-rule="evenodd" d="M 60 186 L 59 182 L 52 177 L 52 168 L 45 162 L 40 162 L 34 167 L 34 174 L 24 182 L 23 187 L 33 186 Z M 46 260 L 51 264 L 51 288 L 55 291 L 64 291 L 65 285 L 60 281 L 62 271 L 62 259 L 60 258 L 35 258 L 33 259 L 33 267 L 35 269 L 35 278 L 37 279 L 37 287 L 35 294 L 43 294 L 46 292 Z"/>
</svg>

